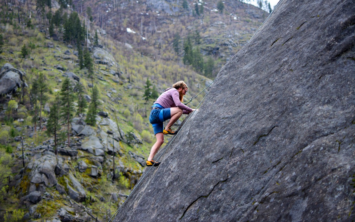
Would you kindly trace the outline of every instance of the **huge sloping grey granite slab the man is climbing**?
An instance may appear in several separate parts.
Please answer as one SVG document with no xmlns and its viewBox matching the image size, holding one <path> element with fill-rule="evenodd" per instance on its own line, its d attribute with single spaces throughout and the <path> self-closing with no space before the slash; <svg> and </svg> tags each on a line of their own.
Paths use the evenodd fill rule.
<svg viewBox="0 0 355 222">
<path fill-rule="evenodd" d="M 280 2 L 114 221 L 354 221 L 353 2 Z"/>
</svg>

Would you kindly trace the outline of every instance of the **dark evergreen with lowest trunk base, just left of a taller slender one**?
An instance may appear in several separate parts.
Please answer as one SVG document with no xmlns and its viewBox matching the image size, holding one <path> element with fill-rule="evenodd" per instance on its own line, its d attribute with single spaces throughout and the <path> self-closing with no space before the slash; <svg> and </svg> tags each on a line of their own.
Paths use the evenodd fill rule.
<svg viewBox="0 0 355 222">
<path fill-rule="evenodd" d="M 56 96 L 54 103 L 50 107 L 49 117 L 47 120 L 47 135 L 54 135 L 54 152 L 57 155 L 57 134 L 60 130 L 59 115 L 60 99 Z"/>
</svg>

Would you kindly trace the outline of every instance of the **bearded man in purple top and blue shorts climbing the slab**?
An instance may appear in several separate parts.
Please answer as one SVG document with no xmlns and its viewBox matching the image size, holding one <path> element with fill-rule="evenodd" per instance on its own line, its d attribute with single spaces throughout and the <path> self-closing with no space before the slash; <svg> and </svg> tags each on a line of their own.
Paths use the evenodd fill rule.
<svg viewBox="0 0 355 222">
<path fill-rule="evenodd" d="M 164 134 L 176 134 L 176 131 L 171 126 L 181 117 L 181 114 L 189 114 L 196 110 L 182 104 L 187 89 L 184 81 L 176 82 L 172 88 L 167 88 L 153 103 L 149 122 L 153 125 L 157 142 L 153 145 L 147 159 L 146 165 L 148 167 L 157 167 L 160 164 L 160 162 L 154 161 L 153 157 L 164 143 Z M 164 128 L 163 122 L 168 119 L 170 119 L 169 123 Z"/>
</svg>

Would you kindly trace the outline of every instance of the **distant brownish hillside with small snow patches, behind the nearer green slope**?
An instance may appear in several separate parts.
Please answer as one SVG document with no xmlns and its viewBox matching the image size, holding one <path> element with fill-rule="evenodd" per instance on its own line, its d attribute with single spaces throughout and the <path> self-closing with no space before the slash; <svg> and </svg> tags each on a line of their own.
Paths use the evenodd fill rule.
<svg viewBox="0 0 355 222">
<path fill-rule="evenodd" d="M 248 42 L 269 15 L 239 0 L 223 1 L 222 11 L 218 10 L 216 0 L 73 0 L 73 3 L 83 16 L 87 15 L 87 7 L 91 8 L 89 15 L 92 22 L 100 27 L 99 32 L 132 45 L 152 59 L 182 62 L 184 40 L 193 36 L 194 48 L 198 47 L 205 62 L 210 57 L 215 61 L 213 73 L 209 76 L 212 78 Z M 196 14 L 196 5 L 199 15 Z M 179 35 L 177 51 L 174 49 L 176 34 Z"/>
</svg>

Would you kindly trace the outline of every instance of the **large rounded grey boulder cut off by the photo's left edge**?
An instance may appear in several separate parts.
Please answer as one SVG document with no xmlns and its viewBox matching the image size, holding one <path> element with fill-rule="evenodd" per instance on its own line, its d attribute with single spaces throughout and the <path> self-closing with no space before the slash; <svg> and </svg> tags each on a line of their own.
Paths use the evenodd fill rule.
<svg viewBox="0 0 355 222">
<path fill-rule="evenodd" d="M 0 94 L 8 94 L 16 91 L 23 84 L 24 72 L 15 69 L 11 64 L 6 63 L 0 69 Z"/>
</svg>

